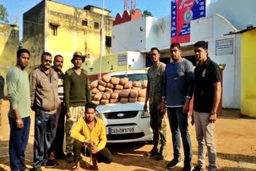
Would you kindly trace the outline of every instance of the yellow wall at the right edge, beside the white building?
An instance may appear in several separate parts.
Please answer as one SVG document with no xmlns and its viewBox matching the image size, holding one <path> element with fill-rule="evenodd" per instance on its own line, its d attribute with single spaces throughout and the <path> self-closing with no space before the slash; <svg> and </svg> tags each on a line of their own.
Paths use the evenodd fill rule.
<svg viewBox="0 0 256 171">
<path fill-rule="evenodd" d="M 256 30 L 241 36 L 241 113 L 256 117 Z"/>
</svg>

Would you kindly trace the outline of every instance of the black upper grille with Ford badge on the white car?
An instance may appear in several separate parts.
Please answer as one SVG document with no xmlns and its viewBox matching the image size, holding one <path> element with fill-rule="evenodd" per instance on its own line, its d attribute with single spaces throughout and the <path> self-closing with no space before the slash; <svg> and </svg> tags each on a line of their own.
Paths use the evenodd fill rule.
<svg viewBox="0 0 256 171">
<path fill-rule="evenodd" d="M 136 117 L 138 111 L 124 111 L 124 112 L 110 112 L 110 113 L 103 113 L 106 119 L 127 119 Z"/>
</svg>

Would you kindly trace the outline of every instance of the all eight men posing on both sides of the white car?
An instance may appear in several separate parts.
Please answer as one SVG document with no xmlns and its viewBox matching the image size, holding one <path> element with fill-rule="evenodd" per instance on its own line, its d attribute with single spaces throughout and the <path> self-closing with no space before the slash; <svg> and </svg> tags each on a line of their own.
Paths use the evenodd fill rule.
<svg viewBox="0 0 256 171">
<path fill-rule="evenodd" d="M 166 157 L 164 114 L 167 109 L 174 150 L 174 158 L 167 167 L 173 169 L 182 163 L 181 136 L 185 156 L 183 171 L 205 170 L 205 146 L 209 156 L 208 169 L 212 171 L 216 170 L 214 121 L 221 98 L 220 74 L 218 65 L 208 57 L 207 42 L 195 43 L 194 53 L 198 61 L 195 69 L 190 61 L 182 58 L 182 48 L 178 43 L 171 44 L 172 62 L 167 65 L 159 61 L 158 48 L 150 51 L 153 66 L 148 70 L 144 110 L 148 109 L 147 101 L 150 99 L 150 125 L 154 133 L 154 146 L 146 155 L 157 160 Z M 8 117 L 11 170 L 26 170 L 25 151 L 30 133 L 30 109 L 35 113 L 34 170 L 41 170 L 42 166 L 58 165 L 55 159 L 64 157 L 66 162 L 75 162 L 74 170 L 80 170 L 81 153 L 91 157 L 94 167 L 97 166 L 97 161 L 112 161 L 112 155 L 105 147 L 106 127 L 95 116 L 96 106 L 90 102 L 90 82 L 86 71 L 82 70 L 84 61 L 82 53 L 75 52 L 71 60 L 74 67 L 63 74 L 62 55 L 56 55 L 54 66 L 51 66 L 52 55 L 44 52 L 41 65 L 35 67 L 29 77 L 25 69 L 30 63 L 30 51 L 17 51 L 17 64 L 6 77 L 10 100 Z M 195 125 L 198 140 L 198 165 L 195 168 L 192 165 L 188 129 L 188 113 L 193 94 L 192 124 Z M 66 155 L 62 148 L 64 133 Z"/>
</svg>

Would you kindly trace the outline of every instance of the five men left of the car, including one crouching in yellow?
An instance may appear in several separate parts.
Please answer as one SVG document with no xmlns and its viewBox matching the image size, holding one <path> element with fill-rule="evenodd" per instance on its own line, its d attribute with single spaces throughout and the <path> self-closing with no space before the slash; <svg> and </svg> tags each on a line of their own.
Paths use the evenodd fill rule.
<svg viewBox="0 0 256 171">
<path fill-rule="evenodd" d="M 85 56 L 75 52 L 71 60 L 74 67 L 63 74 L 62 55 L 54 57 L 52 66 L 52 55 L 44 52 L 41 65 L 28 76 L 25 69 L 30 63 L 30 51 L 17 51 L 17 64 L 6 77 L 10 101 L 11 170 L 29 170 L 25 152 L 30 134 L 30 109 L 35 113 L 33 170 L 42 170 L 42 166 L 54 167 L 58 165 L 56 158 L 64 157 L 66 162 L 75 161 L 74 170 L 79 170 L 81 153 L 94 159 L 94 167 L 97 167 L 97 161 L 112 161 L 110 151 L 105 148 L 105 125 L 95 116 L 95 105 L 90 102 L 89 78 L 82 69 L 84 61 Z M 66 155 L 62 148 L 64 133 Z"/>
</svg>

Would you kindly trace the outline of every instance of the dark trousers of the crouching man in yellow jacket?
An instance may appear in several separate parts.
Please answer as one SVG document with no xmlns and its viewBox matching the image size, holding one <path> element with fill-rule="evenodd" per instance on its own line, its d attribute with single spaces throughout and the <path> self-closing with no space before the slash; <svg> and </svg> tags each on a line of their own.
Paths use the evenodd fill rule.
<svg viewBox="0 0 256 171">
<path fill-rule="evenodd" d="M 82 144 L 81 141 L 75 140 L 74 141 L 74 162 L 77 163 L 80 159 L 81 153 L 85 155 L 86 157 L 90 157 L 90 152 L 89 149 L 87 148 L 85 150 L 85 146 Z M 109 149 L 106 149 L 106 147 L 98 153 L 92 154 L 93 156 L 95 155 L 97 158 L 98 163 L 107 163 L 110 164 L 112 162 L 112 153 L 110 152 Z"/>
</svg>

